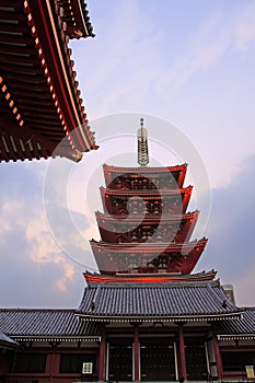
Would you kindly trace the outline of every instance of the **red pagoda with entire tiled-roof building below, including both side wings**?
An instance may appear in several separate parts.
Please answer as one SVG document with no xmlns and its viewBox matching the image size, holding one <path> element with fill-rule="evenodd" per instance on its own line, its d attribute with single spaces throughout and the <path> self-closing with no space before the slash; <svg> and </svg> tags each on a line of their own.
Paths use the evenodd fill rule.
<svg viewBox="0 0 255 383">
<path fill-rule="evenodd" d="M 148 166 L 142 124 L 138 142 L 140 166 L 103 166 L 98 271 L 80 306 L 0 310 L 1 382 L 255 380 L 255 309 L 193 271 L 207 239 L 192 240 L 187 164 Z"/>
</svg>

